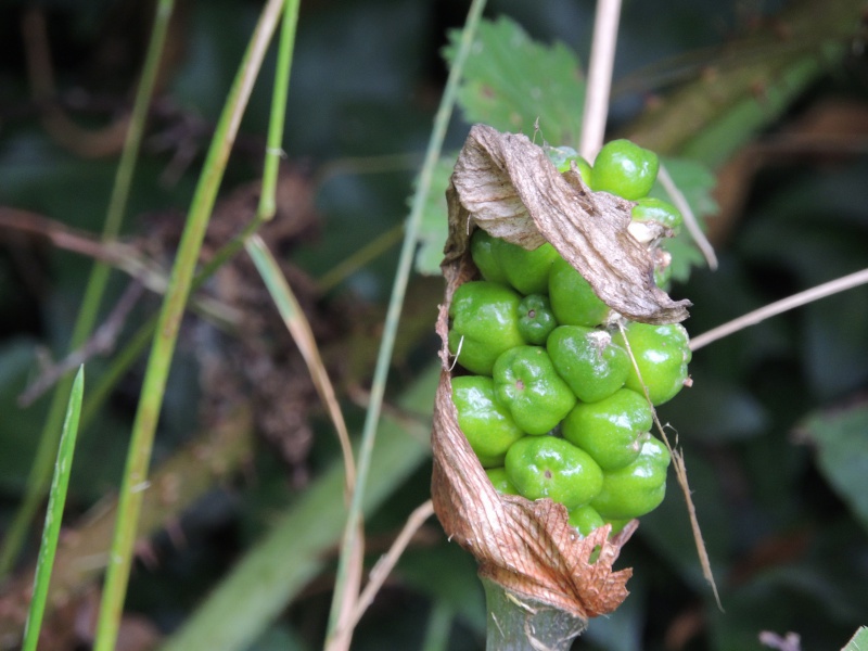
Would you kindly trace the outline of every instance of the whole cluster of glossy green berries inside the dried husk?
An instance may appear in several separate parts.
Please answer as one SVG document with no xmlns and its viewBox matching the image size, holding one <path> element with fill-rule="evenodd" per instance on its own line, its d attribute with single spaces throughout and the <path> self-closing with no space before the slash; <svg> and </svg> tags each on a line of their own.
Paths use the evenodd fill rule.
<svg viewBox="0 0 868 651">
<path fill-rule="evenodd" d="M 591 167 L 572 150 L 552 152 L 560 171 L 635 201 L 634 225 L 680 225 L 673 206 L 646 196 L 653 153 L 616 140 Z M 469 373 L 452 379 L 452 398 L 492 484 L 561 502 L 583 536 L 656 508 L 669 452 L 650 433 L 652 405 L 689 381 L 685 329 L 612 314 L 551 244 L 526 251 L 477 229 L 471 254 L 482 280 L 459 286 L 449 308 L 449 350 Z"/>
</svg>

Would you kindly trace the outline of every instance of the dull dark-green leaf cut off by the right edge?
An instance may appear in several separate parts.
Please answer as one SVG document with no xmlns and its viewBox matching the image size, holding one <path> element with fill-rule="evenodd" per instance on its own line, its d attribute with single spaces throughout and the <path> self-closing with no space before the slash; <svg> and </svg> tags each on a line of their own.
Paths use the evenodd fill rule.
<svg viewBox="0 0 868 651">
<path fill-rule="evenodd" d="M 826 481 L 868 531 L 868 405 L 815 413 L 800 430 L 816 446 Z"/>
</svg>

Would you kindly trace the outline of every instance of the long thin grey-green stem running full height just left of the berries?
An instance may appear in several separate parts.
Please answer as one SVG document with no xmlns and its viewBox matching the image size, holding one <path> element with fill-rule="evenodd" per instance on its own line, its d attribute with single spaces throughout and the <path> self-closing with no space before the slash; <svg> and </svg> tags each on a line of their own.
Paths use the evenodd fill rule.
<svg viewBox="0 0 868 651">
<path fill-rule="evenodd" d="M 326 641 L 327 648 L 329 648 L 331 640 L 335 637 L 340 623 L 346 617 L 343 607 L 343 591 L 349 578 L 347 576 L 349 563 L 354 556 L 357 554 L 357 546 L 359 545 L 358 527 L 361 520 L 361 505 L 365 498 L 365 487 L 368 481 L 371 455 L 373 452 L 374 441 L 376 438 L 376 424 L 380 420 L 380 411 L 383 405 L 386 378 L 388 376 L 388 366 L 392 360 L 392 350 L 395 346 L 395 335 L 398 328 L 398 321 L 400 319 L 404 297 L 407 292 L 407 283 L 412 269 L 413 256 L 416 254 L 417 242 L 419 239 L 419 225 L 422 220 L 422 212 L 425 205 L 425 199 L 431 190 L 431 179 L 434 173 L 434 167 L 439 158 L 441 151 L 443 149 L 443 141 L 446 136 L 446 128 L 452 114 L 452 107 L 455 106 L 458 82 L 461 78 L 461 72 L 464 67 L 464 62 L 467 61 L 473 38 L 476 34 L 484 7 L 485 0 L 473 0 L 470 11 L 468 12 L 468 20 L 464 24 L 463 34 L 461 35 L 459 51 L 456 55 L 455 62 L 452 63 L 452 68 L 449 71 L 449 77 L 446 81 L 443 99 L 441 100 L 441 105 L 437 108 L 437 114 L 434 118 L 434 128 L 431 131 L 427 150 L 425 151 L 425 159 L 422 165 L 422 171 L 419 176 L 419 184 L 417 186 L 416 194 L 413 195 L 410 216 L 407 219 L 407 230 L 405 231 L 404 243 L 401 244 L 400 257 L 398 258 L 398 268 L 395 273 L 395 283 L 392 289 L 392 296 L 390 298 L 388 309 L 386 311 L 386 320 L 383 327 L 383 339 L 376 357 L 376 366 L 374 368 L 373 383 L 371 386 L 371 401 L 365 417 L 365 426 L 361 434 L 361 446 L 359 448 L 357 461 L 358 468 L 356 474 L 356 484 L 353 489 L 353 499 L 349 505 L 349 513 L 347 514 L 346 526 L 344 528 L 344 536 L 341 544 L 341 558 L 337 564 L 334 597 L 332 599 L 332 608 L 329 614 L 329 627 Z"/>
</svg>

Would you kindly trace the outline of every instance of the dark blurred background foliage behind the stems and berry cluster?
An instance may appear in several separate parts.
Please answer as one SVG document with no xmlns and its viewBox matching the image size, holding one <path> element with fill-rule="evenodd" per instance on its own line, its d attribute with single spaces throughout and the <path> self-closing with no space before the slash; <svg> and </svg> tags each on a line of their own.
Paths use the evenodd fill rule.
<svg viewBox="0 0 868 651">
<path fill-rule="evenodd" d="M 698 163 L 687 165 L 700 175 L 697 187 L 711 174 L 716 178 L 718 209 L 707 229 L 719 268 L 695 268 L 674 289 L 694 304 L 686 323 L 691 334 L 868 267 L 868 61 L 859 4 L 624 3 L 612 136 Z M 178 3 L 124 228 L 126 243 L 164 267 L 259 9 L 251 0 Z M 285 264 L 355 431 L 407 196 L 447 74 L 443 49 L 467 9 L 458 0 L 302 3 L 281 205 L 264 237 Z M 21 501 L 48 404 L 40 397 L 25 407 L 20 396 L 66 355 L 91 264 L 47 235 L 68 227 L 72 241 L 93 245 L 90 256 L 101 251 L 94 239 L 152 11 L 144 0 L 0 7 L 0 535 Z M 513 66 L 519 73 L 483 84 L 475 95 L 469 81 L 447 152 L 460 148 L 468 120 L 486 119 L 484 105 L 474 111 L 474 97 L 500 92 L 495 99 L 503 101 L 492 102 L 487 122 L 507 128 L 497 120 L 514 115 L 497 111 L 521 104 L 536 86 L 549 100 L 570 61 L 587 62 L 591 2 L 492 0 L 486 15 L 509 17 L 516 34 L 560 63 Z M 473 65 L 468 76 L 477 81 L 492 69 Z M 46 71 L 53 86 L 46 87 Z M 575 88 L 556 92 L 558 101 L 580 99 L 580 72 L 573 72 Z M 212 246 L 255 208 L 255 186 L 247 183 L 260 174 L 272 73 L 273 61 L 244 118 Z M 540 108 L 537 115 L 563 105 Z M 573 120 L 559 124 L 559 138 L 575 137 L 580 108 L 572 117 L 569 110 L 552 113 L 552 120 Z M 531 102 L 518 115 L 534 110 Z M 548 138 L 545 123 L 541 129 Z M 514 130 L 533 133 L 533 118 L 519 119 Z M 432 210 L 439 202 L 431 197 Z M 706 202 L 702 212 L 710 207 Z M 436 265 L 438 237 L 429 224 L 421 268 Z M 88 360 L 89 382 L 99 381 L 114 352 L 157 308 L 145 292 L 125 318 L 112 318 L 129 286 L 127 275 L 113 275 L 102 320 L 118 322 L 115 347 Z M 393 457 L 383 456 L 372 473 L 372 561 L 427 496 L 426 418 L 442 289 L 436 277 L 419 275 L 408 295 L 390 387 L 394 409 L 381 437 L 394 446 Z M 178 644 L 193 630 L 201 646 L 176 648 L 218 648 L 195 634 L 195 623 L 206 621 L 197 618 L 201 604 L 224 586 L 241 617 L 254 592 L 232 592 L 240 588 L 226 587 L 237 584 L 225 577 L 271 545 L 273 571 L 245 588 L 260 586 L 259 610 L 269 614 L 226 623 L 248 631 L 233 648 L 315 649 L 343 515 L 337 446 L 248 263 L 234 261 L 206 294 L 230 318 L 196 312 L 184 322 L 122 642 L 125 649 Z M 68 593 L 50 621 L 46 649 L 89 643 L 99 554 L 110 531 L 100 523 L 111 515 L 123 470 L 141 363 L 123 374 L 80 434 L 67 552 L 56 570 L 68 571 Z M 796 633 L 805 650 L 843 647 L 868 623 L 868 291 L 826 298 L 715 342 L 694 354 L 691 374 L 693 387 L 660 411 L 686 452 L 726 612 L 702 579 L 672 482 L 666 501 L 642 520 L 622 557 L 623 566 L 635 569 L 630 597 L 612 617 L 593 621 L 576 648 L 760 649 L 764 630 Z M 3 649 L 15 647 L 22 585 L 37 544 L 34 527 L 0 584 Z M 473 562 L 431 521 L 361 621 L 353 648 L 481 649 L 484 628 Z"/>
</svg>

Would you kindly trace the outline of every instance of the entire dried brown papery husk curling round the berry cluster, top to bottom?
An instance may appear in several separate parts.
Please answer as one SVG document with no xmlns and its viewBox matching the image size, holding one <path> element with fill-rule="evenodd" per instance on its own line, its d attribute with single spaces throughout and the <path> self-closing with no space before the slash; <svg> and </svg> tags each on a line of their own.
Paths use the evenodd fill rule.
<svg viewBox="0 0 868 651">
<path fill-rule="evenodd" d="M 591 193 L 575 173 L 561 175 L 525 136 L 474 126 L 447 190 L 449 238 L 443 272 L 445 302 L 437 333 L 443 373 L 434 407 L 432 498 L 450 539 L 468 549 L 480 573 L 516 596 L 578 617 L 614 611 L 627 597 L 633 570 L 613 571 L 636 523 L 608 540 L 604 526 L 580 538 L 566 509 L 549 499 L 499 495 L 458 425 L 448 349 L 449 305 L 458 286 L 477 278 L 469 241 L 481 227 L 535 248 L 558 250 L 610 307 L 643 322 L 676 322 L 688 302 L 673 302 L 653 281 L 648 252 L 627 232 L 631 204 Z M 600 553 L 588 560 L 595 549 Z"/>
</svg>

